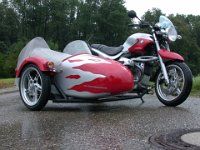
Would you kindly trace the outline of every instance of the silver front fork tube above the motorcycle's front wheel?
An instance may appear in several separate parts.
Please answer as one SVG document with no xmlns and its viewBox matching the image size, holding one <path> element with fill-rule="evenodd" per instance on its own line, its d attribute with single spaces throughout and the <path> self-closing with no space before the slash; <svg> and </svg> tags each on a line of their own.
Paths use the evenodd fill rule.
<svg viewBox="0 0 200 150">
<path fill-rule="evenodd" d="M 157 52 L 160 50 L 160 45 L 159 45 L 159 42 L 158 42 L 158 39 L 156 37 L 156 34 L 153 32 L 153 38 L 155 40 L 155 44 L 156 44 L 156 50 Z M 169 76 L 167 74 L 167 69 L 166 69 L 166 66 L 163 62 L 163 59 L 160 57 L 159 53 L 158 53 L 158 59 L 159 59 L 159 62 L 160 62 L 160 66 L 161 66 L 161 70 L 162 70 L 162 73 L 164 75 L 164 78 L 165 78 L 165 82 L 167 84 L 169 84 Z"/>
</svg>

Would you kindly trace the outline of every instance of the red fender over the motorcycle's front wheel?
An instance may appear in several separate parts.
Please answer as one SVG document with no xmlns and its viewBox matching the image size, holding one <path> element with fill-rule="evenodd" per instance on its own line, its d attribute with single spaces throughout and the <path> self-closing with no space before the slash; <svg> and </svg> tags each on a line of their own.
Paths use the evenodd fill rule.
<svg viewBox="0 0 200 150">
<path fill-rule="evenodd" d="M 175 53 L 175 52 L 170 52 L 166 49 L 161 49 L 158 51 L 158 54 L 161 56 L 162 59 L 164 60 L 180 60 L 180 61 L 184 61 L 184 58 Z"/>
</svg>

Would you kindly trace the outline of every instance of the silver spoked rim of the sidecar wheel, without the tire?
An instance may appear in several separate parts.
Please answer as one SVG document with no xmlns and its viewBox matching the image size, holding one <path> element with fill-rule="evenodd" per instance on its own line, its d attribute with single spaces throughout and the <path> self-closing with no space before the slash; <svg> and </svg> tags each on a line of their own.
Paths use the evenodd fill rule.
<svg viewBox="0 0 200 150">
<path fill-rule="evenodd" d="M 42 78 L 38 70 L 34 67 L 26 69 L 20 84 L 23 101 L 29 106 L 36 105 L 42 95 Z"/>
</svg>

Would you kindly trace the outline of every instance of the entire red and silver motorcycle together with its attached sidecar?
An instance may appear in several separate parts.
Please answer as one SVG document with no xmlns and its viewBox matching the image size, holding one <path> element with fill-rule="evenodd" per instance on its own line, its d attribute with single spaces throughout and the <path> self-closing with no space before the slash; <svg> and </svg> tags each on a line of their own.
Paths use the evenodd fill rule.
<svg viewBox="0 0 200 150">
<path fill-rule="evenodd" d="M 134 11 L 129 16 L 137 17 Z M 155 82 L 157 97 L 164 105 L 183 103 L 191 91 L 192 73 L 183 57 L 169 50 L 167 41 L 178 37 L 171 21 L 161 16 L 155 26 L 130 26 L 148 26 L 153 35 L 133 34 L 117 48 L 91 48 L 78 40 L 67 44 L 63 52 L 51 50 L 43 38 L 31 40 L 19 54 L 16 67 L 16 84 L 24 105 L 35 111 L 43 109 L 49 100 L 143 101 L 143 96 L 151 91 L 150 81 Z"/>
</svg>

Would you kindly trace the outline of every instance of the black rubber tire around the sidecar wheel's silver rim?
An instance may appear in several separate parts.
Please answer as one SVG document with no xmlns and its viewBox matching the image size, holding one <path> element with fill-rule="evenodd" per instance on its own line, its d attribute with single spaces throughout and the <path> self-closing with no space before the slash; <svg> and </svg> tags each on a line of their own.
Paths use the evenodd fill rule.
<svg viewBox="0 0 200 150">
<path fill-rule="evenodd" d="M 41 76 L 41 80 L 42 80 L 42 94 L 38 100 L 38 102 L 33 105 L 33 106 L 30 106 L 28 105 L 24 100 L 23 100 L 23 96 L 22 96 L 22 92 L 21 92 L 21 82 L 22 82 L 22 77 L 23 77 L 23 74 L 25 73 L 25 71 L 30 68 L 30 67 L 33 67 L 35 68 L 38 73 L 40 74 Z M 45 105 L 47 104 L 48 102 L 48 98 L 50 96 L 50 91 L 51 91 L 51 82 L 50 82 L 50 77 L 47 76 L 46 74 L 44 74 L 43 72 L 40 71 L 40 69 L 34 65 L 34 64 L 29 64 L 27 65 L 23 70 L 22 70 L 22 74 L 20 76 L 20 81 L 19 81 L 19 90 L 20 90 L 20 96 L 21 96 L 21 99 L 22 99 L 22 102 L 24 103 L 24 105 L 30 109 L 30 110 L 33 110 L 33 111 L 38 111 L 38 110 L 41 110 L 45 107 Z"/>
</svg>

